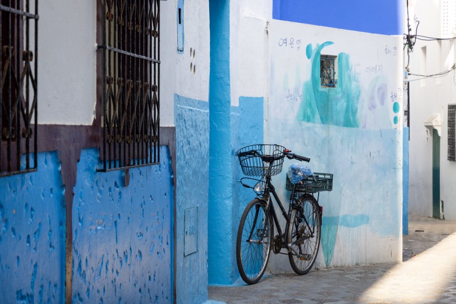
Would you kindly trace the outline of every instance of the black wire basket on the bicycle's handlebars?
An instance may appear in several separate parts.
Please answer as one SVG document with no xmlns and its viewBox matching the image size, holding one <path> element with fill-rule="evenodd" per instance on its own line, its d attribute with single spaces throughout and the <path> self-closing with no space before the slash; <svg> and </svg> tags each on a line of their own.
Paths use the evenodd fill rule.
<svg viewBox="0 0 456 304">
<path fill-rule="evenodd" d="M 282 171 L 284 150 L 277 144 L 254 144 L 239 149 L 236 155 L 246 176 L 274 176 Z"/>
</svg>

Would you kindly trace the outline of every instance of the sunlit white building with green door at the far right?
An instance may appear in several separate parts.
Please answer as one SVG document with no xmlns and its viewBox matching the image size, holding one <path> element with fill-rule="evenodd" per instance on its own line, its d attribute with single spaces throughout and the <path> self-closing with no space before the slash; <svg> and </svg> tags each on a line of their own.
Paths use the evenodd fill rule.
<svg viewBox="0 0 456 304">
<path fill-rule="evenodd" d="M 419 34 L 442 36 L 441 5 L 443 1 L 415 1 L 409 13 L 420 20 Z M 453 24 L 456 26 L 456 24 Z M 456 35 L 454 32 L 453 36 Z M 456 46 L 449 41 L 417 40 L 410 54 L 410 73 L 434 74 L 452 67 Z M 444 217 L 456 220 L 456 162 L 447 160 L 448 104 L 456 103 L 456 84 L 453 72 L 441 78 L 410 80 L 410 187 L 411 213 L 432 216 L 432 127 L 424 122 L 433 114 L 441 116 L 440 132 L 440 200 L 444 202 Z"/>
</svg>

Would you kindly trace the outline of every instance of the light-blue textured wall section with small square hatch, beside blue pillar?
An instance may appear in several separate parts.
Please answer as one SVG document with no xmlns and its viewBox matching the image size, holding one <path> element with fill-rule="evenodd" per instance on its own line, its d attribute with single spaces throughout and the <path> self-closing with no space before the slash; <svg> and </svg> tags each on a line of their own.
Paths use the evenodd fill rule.
<svg viewBox="0 0 456 304">
<path fill-rule="evenodd" d="M 207 299 L 209 103 L 174 95 L 177 158 L 177 302 Z M 184 212 L 198 207 L 197 252 L 184 256 Z M 188 223 L 192 226 L 193 223 Z"/>
</svg>

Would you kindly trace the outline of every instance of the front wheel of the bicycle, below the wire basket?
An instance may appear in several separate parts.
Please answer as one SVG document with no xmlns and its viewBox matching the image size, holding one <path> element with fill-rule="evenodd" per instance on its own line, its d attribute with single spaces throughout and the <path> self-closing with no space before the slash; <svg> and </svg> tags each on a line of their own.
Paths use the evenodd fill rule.
<svg viewBox="0 0 456 304">
<path fill-rule="evenodd" d="M 257 283 L 264 274 L 271 252 L 274 227 L 264 201 L 254 199 L 244 210 L 236 240 L 239 274 L 247 284 Z"/>
</svg>

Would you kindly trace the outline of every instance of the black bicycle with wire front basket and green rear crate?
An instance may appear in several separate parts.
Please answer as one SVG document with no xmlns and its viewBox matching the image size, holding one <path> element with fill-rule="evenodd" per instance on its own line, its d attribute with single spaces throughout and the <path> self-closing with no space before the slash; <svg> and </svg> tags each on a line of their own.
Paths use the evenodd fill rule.
<svg viewBox="0 0 456 304">
<path fill-rule="evenodd" d="M 249 285 L 257 283 L 266 270 L 271 250 L 275 254 L 288 254 L 293 271 L 298 275 L 307 274 L 320 247 L 323 209 L 318 204 L 319 191 L 332 190 L 332 174 L 314 173 L 295 184 L 287 175 L 286 188 L 291 191 L 287 213 L 271 177 L 282 171 L 285 157 L 305 162 L 310 159 L 276 144 L 249 145 L 239 149 L 237 156 L 244 175 L 261 177 L 240 180 L 244 187 L 253 188 L 256 193 L 256 198 L 247 204 L 241 216 L 236 240 L 236 261 L 242 279 Z M 244 183 L 244 179 L 257 183 L 251 186 Z M 318 193 L 317 198 L 314 193 Z M 282 233 L 271 194 L 286 220 L 285 233 Z M 287 253 L 281 252 L 282 249 Z"/>
</svg>

